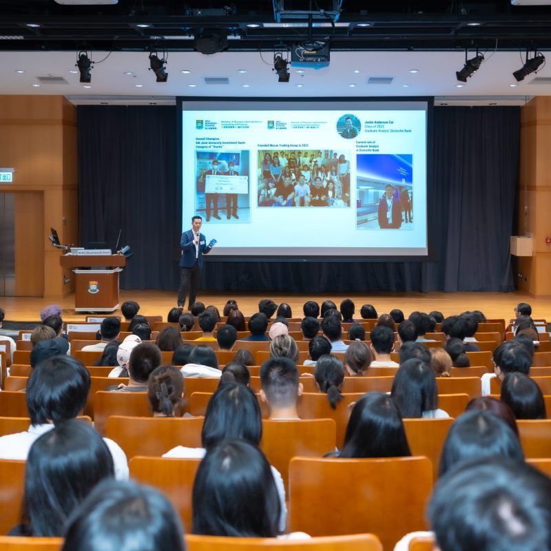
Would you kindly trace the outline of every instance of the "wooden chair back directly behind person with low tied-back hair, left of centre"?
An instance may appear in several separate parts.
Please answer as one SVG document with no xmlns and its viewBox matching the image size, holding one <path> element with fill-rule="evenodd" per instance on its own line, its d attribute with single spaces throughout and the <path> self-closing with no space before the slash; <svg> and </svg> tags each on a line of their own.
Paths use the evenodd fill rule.
<svg viewBox="0 0 551 551">
<path fill-rule="evenodd" d="M 201 447 L 202 417 L 125 417 L 107 419 L 105 436 L 123 448 L 126 457 L 160 457 L 176 446 Z"/>
</svg>

